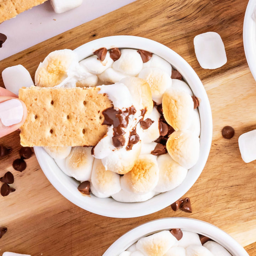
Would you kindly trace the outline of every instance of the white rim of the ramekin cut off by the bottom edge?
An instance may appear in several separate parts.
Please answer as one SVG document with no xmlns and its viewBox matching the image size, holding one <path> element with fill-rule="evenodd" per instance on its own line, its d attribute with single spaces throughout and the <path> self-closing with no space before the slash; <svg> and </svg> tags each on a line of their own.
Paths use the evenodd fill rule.
<svg viewBox="0 0 256 256">
<path fill-rule="evenodd" d="M 134 228 L 117 239 L 102 256 L 118 256 L 140 238 L 162 230 L 179 228 L 205 235 L 218 242 L 233 256 L 249 256 L 245 249 L 230 235 L 210 223 L 190 218 L 164 218 L 147 222 Z"/>
</svg>

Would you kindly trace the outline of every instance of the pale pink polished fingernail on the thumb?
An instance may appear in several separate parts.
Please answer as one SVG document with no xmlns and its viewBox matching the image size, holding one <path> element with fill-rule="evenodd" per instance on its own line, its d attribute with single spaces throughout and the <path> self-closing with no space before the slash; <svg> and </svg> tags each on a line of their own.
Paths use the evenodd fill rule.
<svg viewBox="0 0 256 256">
<path fill-rule="evenodd" d="M 23 117 L 23 107 L 19 100 L 11 99 L 0 103 L 0 119 L 4 126 L 20 123 Z"/>
</svg>

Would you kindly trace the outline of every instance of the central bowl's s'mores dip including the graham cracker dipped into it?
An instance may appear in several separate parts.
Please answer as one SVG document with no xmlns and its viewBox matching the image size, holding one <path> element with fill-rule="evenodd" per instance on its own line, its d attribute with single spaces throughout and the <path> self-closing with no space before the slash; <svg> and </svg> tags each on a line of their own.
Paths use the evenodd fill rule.
<svg viewBox="0 0 256 256">
<path fill-rule="evenodd" d="M 142 202 L 180 185 L 199 158 L 200 99 L 166 60 L 143 49 L 50 53 L 27 106 L 22 146 L 43 146 L 85 196 Z"/>
</svg>

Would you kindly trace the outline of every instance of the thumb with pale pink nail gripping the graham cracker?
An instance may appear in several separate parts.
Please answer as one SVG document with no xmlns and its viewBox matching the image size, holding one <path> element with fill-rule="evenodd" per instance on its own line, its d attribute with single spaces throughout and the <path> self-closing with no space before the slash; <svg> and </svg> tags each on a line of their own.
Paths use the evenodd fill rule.
<svg viewBox="0 0 256 256">
<path fill-rule="evenodd" d="M 20 128 L 26 117 L 27 108 L 23 101 L 0 96 L 0 138 Z"/>
</svg>

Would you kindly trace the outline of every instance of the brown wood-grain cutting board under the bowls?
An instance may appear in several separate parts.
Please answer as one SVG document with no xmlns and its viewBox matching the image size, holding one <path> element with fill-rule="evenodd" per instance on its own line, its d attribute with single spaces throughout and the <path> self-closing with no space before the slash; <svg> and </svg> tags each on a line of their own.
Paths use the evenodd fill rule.
<svg viewBox="0 0 256 256">
<path fill-rule="evenodd" d="M 215 224 L 245 246 L 250 255 L 256 255 L 256 161 L 245 164 L 238 148 L 239 135 L 256 128 L 256 83 L 242 43 L 246 5 L 245 0 L 138 0 L 0 62 L 0 72 L 22 64 L 33 77 L 39 62 L 53 50 L 74 49 L 112 35 L 147 37 L 187 60 L 202 79 L 213 114 L 209 159 L 186 193 L 192 202 L 192 214 L 173 212 L 171 207 L 133 219 L 86 212 L 55 190 L 35 156 L 26 161 L 25 171 L 13 170 L 12 161 L 20 149 L 18 132 L 1 138 L 0 144 L 11 146 L 13 151 L 1 159 L 0 176 L 11 171 L 16 192 L 0 197 L 0 226 L 9 229 L 0 240 L 0 255 L 15 251 L 33 256 L 101 256 L 135 226 L 173 216 Z M 207 31 L 218 32 L 225 44 L 228 62 L 216 70 L 202 69 L 194 53 L 194 36 Z M 4 86 L 1 79 L 0 86 Z M 230 140 L 221 135 L 226 125 L 235 129 Z"/>
</svg>

